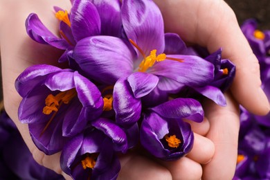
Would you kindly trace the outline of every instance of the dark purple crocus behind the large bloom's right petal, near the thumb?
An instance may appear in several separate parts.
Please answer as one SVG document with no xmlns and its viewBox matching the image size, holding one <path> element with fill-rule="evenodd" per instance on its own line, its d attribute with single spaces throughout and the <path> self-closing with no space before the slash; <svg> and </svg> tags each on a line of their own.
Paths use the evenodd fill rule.
<svg viewBox="0 0 270 180">
<path fill-rule="evenodd" d="M 201 57 L 201 53 L 197 51 L 204 52 L 205 60 L 212 63 L 215 66 L 214 78 L 208 84 L 203 84 L 200 87 L 185 87 L 182 88 L 180 92 L 181 97 L 197 97 L 197 93 L 210 98 L 218 105 L 225 106 L 226 99 L 222 92 L 226 91 L 228 87 L 231 86 L 233 78 L 235 77 L 235 66 L 230 60 L 222 59 L 222 49 L 220 48 L 215 53 L 209 54 L 206 48 L 199 46 L 187 47 L 185 42 L 179 37 L 179 35 L 174 33 L 165 34 L 165 53 L 166 54 L 183 54 L 183 55 L 198 55 Z M 174 82 L 175 89 L 179 89 L 181 84 Z M 172 89 L 173 90 L 173 89 Z M 171 91 L 170 93 L 175 93 Z"/>
</svg>

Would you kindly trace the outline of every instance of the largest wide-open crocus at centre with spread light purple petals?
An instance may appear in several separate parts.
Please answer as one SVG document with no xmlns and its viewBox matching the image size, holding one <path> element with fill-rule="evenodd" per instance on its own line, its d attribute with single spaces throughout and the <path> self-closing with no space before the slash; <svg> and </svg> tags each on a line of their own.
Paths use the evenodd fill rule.
<svg viewBox="0 0 270 180">
<path fill-rule="evenodd" d="M 163 18 L 153 1 L 125 0 L 121 17 L 129 41 L 86 37 L 70 55 L 87 77 L 115 84 L 113 105 L 120 125 L 133 125 L 140 118 L 141 98 L 156 88 L 170 92 L 184 86 L 201 87 L 213 80 L 213 64 L 201 57 L 163 53 Z"/>
</svg>

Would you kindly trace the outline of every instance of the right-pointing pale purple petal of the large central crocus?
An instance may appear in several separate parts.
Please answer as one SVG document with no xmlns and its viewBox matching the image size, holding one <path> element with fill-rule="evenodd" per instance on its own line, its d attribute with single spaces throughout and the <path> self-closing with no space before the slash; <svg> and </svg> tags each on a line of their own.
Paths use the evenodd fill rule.
<svg viewBox="0 0 270 180">
<path fill-rule="evenodd" d="M 183 62 L 164 60 L 154 64 L 149 73 L 165 76 L 190 87 L 208 84 L 214 77 L 214 66 L 201 57 L 193 55 L 167 55 Z"/>
</svg>

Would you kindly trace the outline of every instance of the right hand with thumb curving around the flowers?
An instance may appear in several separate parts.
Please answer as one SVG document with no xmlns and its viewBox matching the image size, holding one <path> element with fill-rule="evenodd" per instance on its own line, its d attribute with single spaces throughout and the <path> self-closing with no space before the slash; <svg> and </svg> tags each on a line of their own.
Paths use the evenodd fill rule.
<svg viewBox="0 0 270 180">
<path fill-rule="evenodd" d="M 237 156 L 239 130 L 235 100 L 254 114 L 269 112 L 267 96 L 260 88 L 260 67 L 237 24 L 233 10 L 223 0 L 154 0 L 163 13 L 165 31 L 178 33 L 190 43 L 207 47 L 210 53 L 222 48 L 222 57 L 236 66 L 236 75 L 227 96 L 227 107 L 204 103 L 210 122 L 207 138 L 215 144 L 212 161 L 203 165 L 204 179 L 232 179 Z M 233 100 L 233 98 L 235 100 Z"/>
</svg>

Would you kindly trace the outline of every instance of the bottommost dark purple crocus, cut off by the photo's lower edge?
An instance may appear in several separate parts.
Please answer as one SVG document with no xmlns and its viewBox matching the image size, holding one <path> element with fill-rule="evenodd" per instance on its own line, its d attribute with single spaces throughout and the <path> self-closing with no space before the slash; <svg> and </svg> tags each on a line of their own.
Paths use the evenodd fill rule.
<svg viewBox="0 0 270 180">
<path fill-rule="evenodd" d="M 116 179 L 120 171 L 116 152 L 127 150 L 127 136 L 106 118 L 91 125 L 66 143 L 60 159 L 62 170 L 73 179 Z"/>
</svg>

